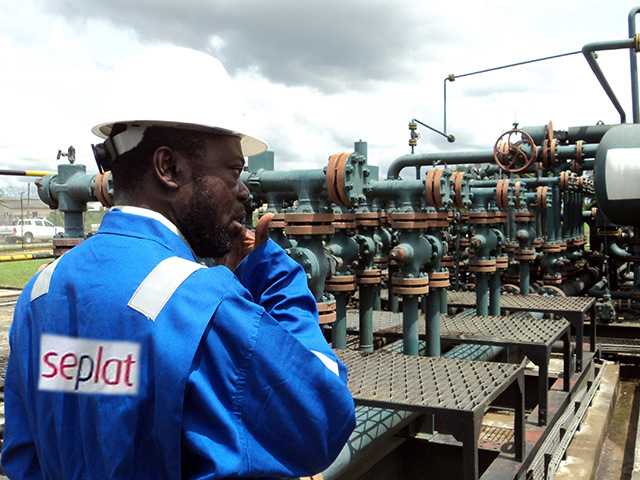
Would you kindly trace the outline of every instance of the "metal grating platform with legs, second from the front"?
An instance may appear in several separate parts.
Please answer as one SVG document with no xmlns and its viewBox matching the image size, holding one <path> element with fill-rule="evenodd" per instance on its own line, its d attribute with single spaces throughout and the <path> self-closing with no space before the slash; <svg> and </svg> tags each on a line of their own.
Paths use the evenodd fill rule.
<svg viewBox="0 0 640 480">
<path fill-rule="evenodd" d="M 347 330 L 357 332 L 357 312 L 347 313 Z M 426 324 L 419 322 L 418 332 L 425 335 Z M 401 336 L 402 314 L 376 311 L 373 331 L 378 335 Z M 571 339 L 569 322 L 551 319 L 521 319 L 512 317 L 440 317 L 440 338 L 452 343 L 474 343 L 520 348 L 538 366 L 538 423 L 545 425 L 549 405 L 549 361 L 553 343 L 564 343 L 563 388 L 569 391 L 571 376 Z"/>
</svg>

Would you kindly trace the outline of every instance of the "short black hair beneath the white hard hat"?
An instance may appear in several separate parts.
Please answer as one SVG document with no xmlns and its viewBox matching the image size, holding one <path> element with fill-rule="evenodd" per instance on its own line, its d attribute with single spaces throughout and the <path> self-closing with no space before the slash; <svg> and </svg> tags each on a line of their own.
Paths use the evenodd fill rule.
<svg viewBox="0 0 640 480">
<path fill-rule="evenodd" d="M 118 131 L 117 125 L 114 130 Z M 183 152 L 195 162 L 201 160 L 206 150 L 206 138 L 210 135 L 208 132 L 174 127 L 146 128 L 140 143 L 116 158 L 111 165 L 114 191 L 137 193 L 140 180 L 151 171 L 153 154 L 160 147 Z"/>
</svg>

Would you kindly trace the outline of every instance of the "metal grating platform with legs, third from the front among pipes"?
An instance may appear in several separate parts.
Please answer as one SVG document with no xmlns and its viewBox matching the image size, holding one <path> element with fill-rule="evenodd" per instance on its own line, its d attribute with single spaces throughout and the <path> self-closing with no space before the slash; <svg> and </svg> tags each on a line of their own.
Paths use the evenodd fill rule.
<svg viewBox="0 0 640 480">
<path fill-rule="evenodd" d="M 576 332 L 576 371 L 582 371 L 584 322 L 587 312 L 591 317 L 591 351 L 596 349 L 595 298 L 589 297 L 544 297 L 539 295 L 500 295 L 500 309 L 510 311 L 535 311 L 553 313 L 565 317 Z M 474 308 L 475 292 L 447 292 L 449 307 Z"/>
</svg>

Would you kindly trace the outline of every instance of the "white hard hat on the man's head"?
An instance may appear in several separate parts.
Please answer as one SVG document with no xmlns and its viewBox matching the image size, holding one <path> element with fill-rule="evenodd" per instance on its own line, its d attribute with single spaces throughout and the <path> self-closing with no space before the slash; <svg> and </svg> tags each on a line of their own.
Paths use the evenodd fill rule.
<svg viewBox="0 0 640 480">
<path fill-rule="evenodd" d="M 126 130 L 111 140 L 116 155 L 133 149 L 149 126 L 211 131 L 240 138 L 245 156 L 267 145 L 247 134 L 250 127 L 236 85 L 219 60 L 195 50 L 163 46 L 125 61 L 105 92 L 102 119 L 92 128 L 107 138 L 115 124 Z"/>
</svg>

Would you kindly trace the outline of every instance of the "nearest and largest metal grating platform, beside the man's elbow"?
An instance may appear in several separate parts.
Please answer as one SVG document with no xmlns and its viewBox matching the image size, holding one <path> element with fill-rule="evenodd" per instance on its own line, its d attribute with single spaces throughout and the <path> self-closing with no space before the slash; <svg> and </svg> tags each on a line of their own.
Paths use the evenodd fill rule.
<svg viewBox="0 0 640 480">
<path fill-rule="evenodd" d="M 435 415 L 462 442 L 464 477 L 478 478 L 478 440 L 482 417 L 502 392 L 514 395 L 514 450 L 524 454 L 524 367 L 522 365 L 370 354 L 335 350 L 349 369 L 356 405 Z"/>
</svg>

